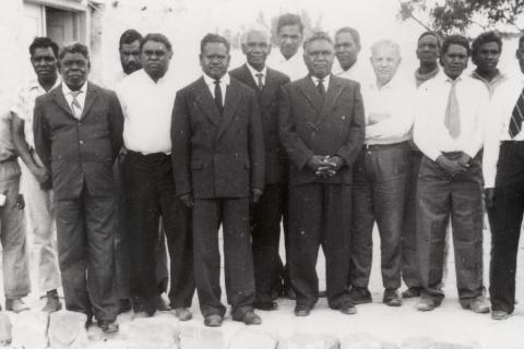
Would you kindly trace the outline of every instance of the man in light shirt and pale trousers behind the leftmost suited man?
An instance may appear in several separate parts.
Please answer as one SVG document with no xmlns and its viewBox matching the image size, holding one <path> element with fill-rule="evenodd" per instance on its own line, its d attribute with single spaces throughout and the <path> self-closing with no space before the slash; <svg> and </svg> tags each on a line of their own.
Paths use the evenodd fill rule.
<svg viewBox="0 0 524 349">
<path fill-rule="evenodd" d="M 43 311 L 62 308 L 57 289 L 61 286 L 55 236 L 55 218 L 50 173 L 35 152 L 33 112 L 35 99 L 60 85 L 58 76 L 58 45 L 47 37 L 35 38 L 29 46 L 31 63 L 36 80 L 23 86 L 11 107 L 12 140 L 20 155 L 21 192 L 25 198 L 27 232 L 33 234 L 38 267 L 38 288 L 46 292 Z"/>
</svg>

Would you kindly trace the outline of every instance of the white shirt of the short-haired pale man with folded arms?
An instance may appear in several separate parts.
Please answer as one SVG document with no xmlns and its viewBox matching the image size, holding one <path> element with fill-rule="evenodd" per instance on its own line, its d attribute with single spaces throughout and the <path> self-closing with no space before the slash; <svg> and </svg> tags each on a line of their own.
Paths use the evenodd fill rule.
<svg viewBox="0 0 524 349">
<path fill-rule="evenodd" d="M 397 76 L 382 87 L 377 80 L 362 85 L 366 144 L 394 144 L 410 139 L 416 89 Z"/>
</svg>

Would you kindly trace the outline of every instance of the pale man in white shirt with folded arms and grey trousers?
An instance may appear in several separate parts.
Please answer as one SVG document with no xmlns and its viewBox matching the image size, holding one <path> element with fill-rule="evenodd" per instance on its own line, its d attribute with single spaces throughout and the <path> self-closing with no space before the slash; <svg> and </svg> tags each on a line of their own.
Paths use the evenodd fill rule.
<svg viewBox="0 0 524 349">
<path fill-rule="evenodd" d="M 371 47 L 376 80 L 364 84 L 366 137 L 354 167 L 352 300 L 371 302 L 368 290 L 372 262 L 372 231 L 379 226 L 383 302 L 402 305 L 401 243 L 406 185 L 409 179 L 409 139 L 414 122 L 415 87 L 396 77 L 400 48 L 391 40 Z"/>
</svg>

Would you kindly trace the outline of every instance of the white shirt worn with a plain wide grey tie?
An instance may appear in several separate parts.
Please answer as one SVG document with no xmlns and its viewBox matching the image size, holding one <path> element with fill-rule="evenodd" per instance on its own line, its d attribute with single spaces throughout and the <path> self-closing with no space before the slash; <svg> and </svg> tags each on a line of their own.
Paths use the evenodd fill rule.
<svg viewBox="0 0 524 349">
<path fill-rule="evenodd" d="M 414 139 L 418 148 L 433 161 L 443 152 L 464 152 L 475 157 L 483 146 L 489 95 L 486 86 L 471 76 L 457 77 L 461 133 L 450 135 L 444 124 L 452 80 L 443 72 L 425 82 L 416 98 Z"/>
</svg>

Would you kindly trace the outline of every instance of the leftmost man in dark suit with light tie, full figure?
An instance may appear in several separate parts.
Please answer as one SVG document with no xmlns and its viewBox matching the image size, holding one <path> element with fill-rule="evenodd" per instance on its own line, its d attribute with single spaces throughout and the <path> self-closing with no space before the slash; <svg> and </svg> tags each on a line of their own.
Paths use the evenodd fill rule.
<svg viewBox="0 0 524 349">
<path fill-rule="evenodd" d="M 52 174 L 66 308 L 117 332 L 112 164 L 122 145 L 122 111 L 115 93 L 87 82 L 87 47 L 67 46 L 59 61 L 62 84 L 36 98 L 33 130 Z"/>
</svg>

